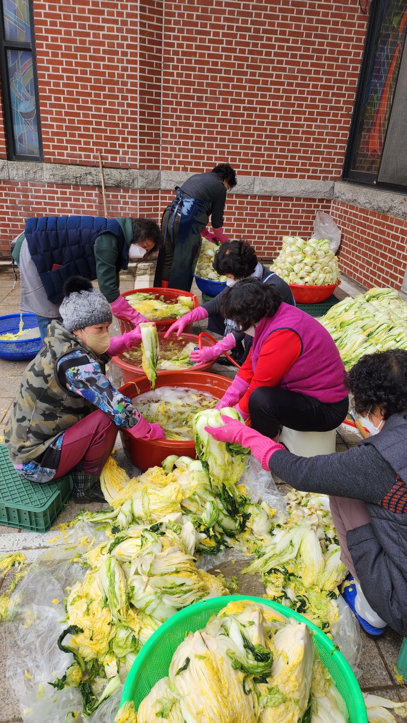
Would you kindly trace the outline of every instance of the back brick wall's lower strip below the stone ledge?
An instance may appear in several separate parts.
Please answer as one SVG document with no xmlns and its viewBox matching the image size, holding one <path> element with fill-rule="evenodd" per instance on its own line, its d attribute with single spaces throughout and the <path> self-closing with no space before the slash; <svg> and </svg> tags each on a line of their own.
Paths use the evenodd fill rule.
<svg viewBox="0 0 407 723">
<path fill-rule="evenodd" d="M 171 192 L 135 189 L 106 189 L 108 215 L 140 215 L 155 218 L 173 197 Z M 228 196 L 225 209 L 225 231 L 230 238 L 244 236 L 260 257 L 270 259 L 281 247 L 281 237 L 310 236 L 317 210 L 330 210 L 331 202 L 312 199 Z M 88 186 L 57 186 L 48 184 L 0 184 L 0 208 L 9 223 L 7 231 L 0 227 L 4 249 L 24 229 L 25 219 L 34 215 L 103 215 L 100 188 Z M 5 251 L 7 255 L 7 252 Z"/>
</svg>

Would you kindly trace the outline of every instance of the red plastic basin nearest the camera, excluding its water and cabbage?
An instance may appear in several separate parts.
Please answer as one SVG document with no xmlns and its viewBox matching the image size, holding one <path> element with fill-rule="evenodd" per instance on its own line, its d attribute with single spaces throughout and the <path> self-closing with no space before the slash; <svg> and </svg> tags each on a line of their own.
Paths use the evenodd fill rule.
<svg viewBox="0 0 407 723">
<path fill-rule="evenodd" d="M 187 387 L 196 389 L 200 392 L 212 394 L 214 397 L 221 399 L 223 394 L 231 385 L 232 380 L 226 377 L 220 377 L 217 374 L 209 374 L 208 372 L 162 372 L 157 377 L 155 388 L 159 387 Z M 119 391 L 129 397 L 134 406 L 137 407 L 137 396 L 148 392 L 151 385 L 147 377 L 141 377 L 136 382 L 128 382 Z M 136 440 L 127 432 L 127 429 L 120 430 L 121 441 L 127 458 L 139 469 L 145 471 L 149 467 L 160 465 L 163 459 L 170 454 L 176 454 L 179 457 L 186 455 L 197 458 L 194 440 Z"/>
</svg>

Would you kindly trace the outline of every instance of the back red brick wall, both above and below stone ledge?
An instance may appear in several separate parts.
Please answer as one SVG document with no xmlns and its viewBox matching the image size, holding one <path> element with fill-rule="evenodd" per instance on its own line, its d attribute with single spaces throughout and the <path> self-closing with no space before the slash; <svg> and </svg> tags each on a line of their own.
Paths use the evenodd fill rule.
<svg viewBox="0 0 407 723">
<path fill-rule="evenodd" d="M 100 150 L 122 168 L 228 160 L 240 175 L 339 179 L 367 28 L 357 0 L 34 0 L 34 17 L 46 163 L 93 165 Z M 157 220 L 172 197 L 106 194 L 110 215 Z M 231 195 L 225 228 L 270 258 L 320 208 Z M 27 216 L 68 213 L 103 213 L 100 189 L 0 181 L 0 249 Z"/>
</svg>

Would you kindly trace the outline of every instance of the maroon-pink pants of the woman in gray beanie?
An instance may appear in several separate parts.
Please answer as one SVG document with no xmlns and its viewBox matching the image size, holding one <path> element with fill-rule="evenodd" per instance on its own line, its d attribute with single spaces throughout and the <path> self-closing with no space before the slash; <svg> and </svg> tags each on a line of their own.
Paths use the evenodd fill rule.
<svg viewBox="0 0 407 723">
<path fill-rule="evenodd" d="M 64 433 L 61 459 L 54 479 L 82 462 L 82 471 L 98 476 L 111 455 L 118 428 L 101 409 L 93 411 Z"/>
</svg>

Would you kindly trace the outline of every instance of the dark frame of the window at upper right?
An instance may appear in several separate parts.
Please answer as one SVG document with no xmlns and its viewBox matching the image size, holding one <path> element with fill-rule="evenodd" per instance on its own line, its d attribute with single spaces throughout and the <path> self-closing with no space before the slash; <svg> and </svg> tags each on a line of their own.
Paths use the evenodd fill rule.
<svg viewBox="0 0 407 723">
<path fill-rule="evenodd" d="M 356 150 L 356 142 L 358 139 L 358 129 L 359 129 L 359 123 L 361 121 L 361 112 L 364 108 L 364 95 L 366 91 L 367 86 L 367 80 L 369 78 L 369 72 L 370 67 L 373 61 L 373 55 L 374 55 L 374 41 L 376 38 L 377 33 L 377 25 L 380 19 L 380 0 L 372 0 L 372 4 L 370 6 L 370 15 L 369 15 L 369 24 L 367 26 L 367 35 L 366 35 L 366 41 L 364 46 L 364 53 L 361 60 L 361 72 L 359 74 L 359 81 L 358 86 L 356 89 L 356 98 L 355 98 L 355 104 L 354 104 L 354 110 L 352 112 L 352 120 L 351 120 L 351 127 L 349 129 L 349 137 L 348 137 L 348 145 L 346 146 L 346 153 L 345 153 L 345 160 L 343 162 L 343 173 L 342 173 L 342 180 L 343 181 L 350 181 L 351 183 L 357 183 L 364 186 L 369 187 L 376 187 L 381 189 L 394 189 L 396 191 L 407 191 L 407 186 L 400 186 L 398 184 L 390 184 L 390 183 L 380 183 L 379 175 L 380 175 L 380 165 L 377 169 L 377 173 L 366 173 L 365 171 L 352 171 L 352 161 L 354 160 L 354 153 Z M 404 40 L 404 46 L 407 45 L 407 36 Z M 401 57 L 403 56 L 404 48 L 401 48 Z M 400 67 L 401 62 L 398 67 L 398 75 L 395 87 L 397 87 L 397 83 L 400 76 Z M 392 108 L 393 108 L 393 102 L 394 97 L 392 100 Z M 391 109 L 389 114 L 389 122 L 390 122 L 390 116 L 391 116 Z M 389 122 L 387 123 L 386 133 L 385 133 L 385 140 L 383 142 L 383 148 L 382 148 L 382 155 L 385 150 L 386 145 L 386 138 L 387 138 L 387 130 L 389 127 Z M 382 159 L 380 159 L 380 164 L 382 162 Z"/>
</svg>

